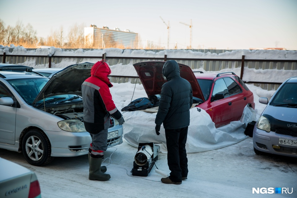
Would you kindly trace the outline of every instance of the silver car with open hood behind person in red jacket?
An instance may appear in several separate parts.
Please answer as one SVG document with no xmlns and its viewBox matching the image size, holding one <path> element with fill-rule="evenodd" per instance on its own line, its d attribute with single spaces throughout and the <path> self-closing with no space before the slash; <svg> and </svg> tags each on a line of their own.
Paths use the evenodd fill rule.
<svg viewBox="0 0 297 198">
<path fill-rule="evenodd" d="M 0 148 L 23 152 L 35 166 L 53 157 L 88 153 L 81 84 L 93 63 L 66 67 L 50 79 L 31 73 L 0 71 Z M 111 118 L 108 147 L 122 144 L 123 125 Z"/>
</svg>

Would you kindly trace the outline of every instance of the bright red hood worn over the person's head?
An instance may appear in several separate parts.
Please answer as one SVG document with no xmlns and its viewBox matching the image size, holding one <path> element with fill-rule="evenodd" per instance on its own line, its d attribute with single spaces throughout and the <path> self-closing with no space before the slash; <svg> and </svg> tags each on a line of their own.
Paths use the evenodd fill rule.
<svg viewBox="0 0 297 198">
<path fill-rule="evenodd" d="M 108 75 L 111 74 L 111 70 L 104 60 L 96 62 L 93 67 L 91 68 L 91 76 L 99 78 L 103 82 L 105 82 L 109 87 L 113 85 L 110 83 L 109 79 L 107 78 Z"/>
</svg>

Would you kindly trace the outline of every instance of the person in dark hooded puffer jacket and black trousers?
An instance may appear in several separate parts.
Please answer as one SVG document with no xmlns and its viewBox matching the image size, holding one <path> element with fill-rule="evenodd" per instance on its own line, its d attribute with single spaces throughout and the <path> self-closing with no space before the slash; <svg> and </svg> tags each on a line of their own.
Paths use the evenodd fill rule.
<svg viewBox="0 0 297 198">
<path fill-rule="evenodd" d="M 187 179 L 187 131 L 190 125 L 190 108 L 193 104 L 191 84 L 180 77 L 179 65 L 174 60 L 165 62 L 163 75 L 168 82 L 163 84 L 159 109 L 155 119 L 156 133 L 160 135 L 163 123 L 167 145 L 167 162 L 170 176 L 163 183 L 181 184 Z"/>
</svg>

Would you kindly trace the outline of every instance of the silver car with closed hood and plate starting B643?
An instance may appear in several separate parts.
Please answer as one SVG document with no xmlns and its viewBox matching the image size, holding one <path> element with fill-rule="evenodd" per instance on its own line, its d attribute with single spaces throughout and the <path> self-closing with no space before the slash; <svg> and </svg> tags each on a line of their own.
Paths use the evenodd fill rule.
<svg viewBox="0 0 297 198">
<path fill-rule="evenodd" d="M 297 157 L 297 76 L 282 83 L 269 102 L 259 102 L 267 106 L 254 127 L 255 153 Z"/>
</svg>

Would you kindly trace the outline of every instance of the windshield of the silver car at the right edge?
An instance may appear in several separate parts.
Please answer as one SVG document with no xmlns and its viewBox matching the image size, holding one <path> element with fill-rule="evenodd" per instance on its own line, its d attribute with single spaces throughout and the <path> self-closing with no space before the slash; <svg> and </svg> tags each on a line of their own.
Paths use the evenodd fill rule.
<svg viewBox="0 0 297 198">
<path fill-rule="evenodd" d="M 271 101 L 273 106 L 296 106 L 297 104 L 297 83 L 286 83 L 276 93 Z"/>
</svg>

